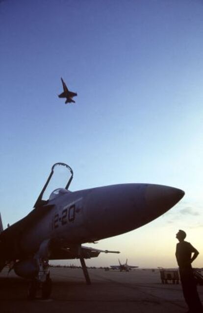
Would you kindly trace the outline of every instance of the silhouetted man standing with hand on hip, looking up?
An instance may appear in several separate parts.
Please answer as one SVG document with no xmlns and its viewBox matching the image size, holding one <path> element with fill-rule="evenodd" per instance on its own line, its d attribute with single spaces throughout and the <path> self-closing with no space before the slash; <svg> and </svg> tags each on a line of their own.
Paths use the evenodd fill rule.
<svg viewBox="0 0 203 313">
<path fill-rule="evenodd" d="M 179 230 L 176 234 L 176 238 L 179 241 L 176 246 L 176 259 L 179 266 L 182 291 L 189 308 L 188 313 L 203 313 L 191 265 L 199 252 L 190 242 L 184 241 L 185 237 L 186 233 L 183 230 Z M 193 256 L 192 253 L 194 253 Z"/>
</svg>

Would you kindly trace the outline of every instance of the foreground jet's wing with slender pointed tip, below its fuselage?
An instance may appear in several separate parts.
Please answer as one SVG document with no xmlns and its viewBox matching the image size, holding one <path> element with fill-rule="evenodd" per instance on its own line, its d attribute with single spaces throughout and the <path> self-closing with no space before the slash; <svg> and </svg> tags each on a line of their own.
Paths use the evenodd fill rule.
<svg viewBox="0 0 203 313">
<path fill-rule="evenodd" d="M 81 246 L 81 256 L 84 259 L 96 258 L 101 252 L 104 253 L 120 253 L 119 251 L 100 250 L 91 247 Z M 76 247 L 59 247 L 56 245 L 51 249 L 50 260 L 69 260 L 79 259 L 78 250 Z"/>
</svg>

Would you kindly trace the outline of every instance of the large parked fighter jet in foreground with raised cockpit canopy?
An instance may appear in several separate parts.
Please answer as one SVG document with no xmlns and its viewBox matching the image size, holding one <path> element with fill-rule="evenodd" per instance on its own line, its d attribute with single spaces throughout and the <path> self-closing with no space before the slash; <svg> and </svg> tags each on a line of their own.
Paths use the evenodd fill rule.
<svg viewBox="0 0 203 313">
<path fill-rule="evenodd" d="M 44 199 L 58 167 L 67 169 L 70 179 L 64 188 Z M 0 220 L 0 270 L 13 263 L 17 275 L 30 279 L 29 298 L 35 297 L 39 286 L 42 297 L 50 296 L 49 260 L 80 259 L 86 283 L 90 284 L 84 259 L 98 257 L 100 252 L 118 251 L 85 247 L 83 243 L 143 226 L 184 195 L 179 189 L 153 184 L 119 184 L 71 192 L 72 179 L 73 170 L 68 165 L 54 164 L 34 209 L 5 230 Z"/>
</svg>

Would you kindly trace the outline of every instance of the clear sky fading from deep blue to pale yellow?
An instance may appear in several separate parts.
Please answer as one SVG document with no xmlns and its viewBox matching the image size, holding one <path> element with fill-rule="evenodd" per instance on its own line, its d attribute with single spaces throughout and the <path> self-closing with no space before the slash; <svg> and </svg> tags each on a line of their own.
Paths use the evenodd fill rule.
<svg viewBox="0 0 203 313">
<path fill-rule="evenodd" d="M 76 104 L 57 97 L 61 76 Z M 29 213 L 51 166 L 65 162 L 72 191 L 184 190 L 164 216 L 94 246 L 130 265 L 172 267 L 183 229 L 203 267 L 203 1 L 0 1 L 0 137 L 4 227 Z"/>
</svg>

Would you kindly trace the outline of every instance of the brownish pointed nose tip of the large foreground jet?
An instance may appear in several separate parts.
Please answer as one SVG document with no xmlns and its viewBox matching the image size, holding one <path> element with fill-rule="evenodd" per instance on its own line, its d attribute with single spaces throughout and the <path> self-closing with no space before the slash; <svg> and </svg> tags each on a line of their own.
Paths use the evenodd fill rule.
<svg viewBox="0 0 203 313">
<path fill-rule="evenodd" d="M 145 193 L 146 208 L 148 212 L 156 212 L 157 216 L 172 208 L 184 196 L 178 188 L 148 185 Z"/>
</svg>

